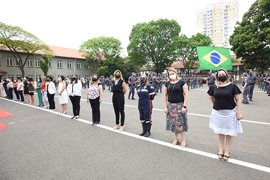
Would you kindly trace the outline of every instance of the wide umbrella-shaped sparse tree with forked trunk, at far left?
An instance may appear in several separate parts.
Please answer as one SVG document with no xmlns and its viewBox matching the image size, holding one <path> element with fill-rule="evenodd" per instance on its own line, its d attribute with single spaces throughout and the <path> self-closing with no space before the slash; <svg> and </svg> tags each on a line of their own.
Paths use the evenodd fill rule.
<svg viewBox="0 0 270 180">
<path fill-rule="evenodd" d="M 53 51 L 37 36 L 24 31 L 17 26 L 10 26 L 0 22 L 0 49 L 10 50 L 24 77 L 24 67 L 32 55 L 52 54 Z M 22 59 L 21 53 L 26 54 Z"/>
</svg>

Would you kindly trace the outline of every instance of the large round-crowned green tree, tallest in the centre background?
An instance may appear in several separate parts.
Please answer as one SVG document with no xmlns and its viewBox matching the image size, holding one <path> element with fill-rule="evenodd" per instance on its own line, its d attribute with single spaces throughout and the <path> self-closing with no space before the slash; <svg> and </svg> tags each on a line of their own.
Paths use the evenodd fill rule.
<svg viewBox="0 0 270 180">
<path fill-rule="evenodd" d="M 133 26 L 127 51 L 138 66 L 153 66 L 154 72 L 163 72 L 173 63 L 173 42 L 181 27 L 175 20 L 159 19 Z"/>
</svg>

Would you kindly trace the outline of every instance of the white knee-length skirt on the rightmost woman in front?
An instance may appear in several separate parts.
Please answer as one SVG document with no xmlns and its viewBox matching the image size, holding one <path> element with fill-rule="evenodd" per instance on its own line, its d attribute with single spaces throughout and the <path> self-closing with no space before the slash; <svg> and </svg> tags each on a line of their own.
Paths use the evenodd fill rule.
<svg viewBox="0 0 270 180">
<path fill-rule="evenodd" d="M 217 134 L 236 136 L 243 133 L 240 121 L 237 120 L 234 109 L 212 110 L 209 127 Z"/>
</svg>

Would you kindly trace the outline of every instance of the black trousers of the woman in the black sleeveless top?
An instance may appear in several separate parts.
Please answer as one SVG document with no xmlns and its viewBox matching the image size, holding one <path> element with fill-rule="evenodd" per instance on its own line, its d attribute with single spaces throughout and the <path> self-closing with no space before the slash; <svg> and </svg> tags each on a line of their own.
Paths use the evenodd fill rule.
<svg viewBox="0 0 270 180">
<path fill-rule="evenodd" d="M 124 94 L 116 94 L 116 93 L 113 94 L 113 106 L 114 106 L 115 114 L 116 114 L 116 124 L 119 124 L 119 118 L 120 118 L 120 114 L 121 114 L 121 126 L 123 126 L 124 122 L 125 122 L 125 112 L 124 112 L 125 97 L 124 97 Z"/>
</svg>

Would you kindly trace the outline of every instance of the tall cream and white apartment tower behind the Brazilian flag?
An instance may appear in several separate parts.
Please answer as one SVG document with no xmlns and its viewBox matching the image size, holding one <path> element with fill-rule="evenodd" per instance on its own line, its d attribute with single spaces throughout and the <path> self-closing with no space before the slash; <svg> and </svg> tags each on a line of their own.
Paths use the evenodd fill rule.
<svg viewBox="0 0 270 180">
<path fill-rule="evenodd" d="M 217 47 L 231 48 L 229 38 L 238 21 L 238 2 L 216 1 L 196 11 L 197 33 L 209 36 Z"/>
</svg>

